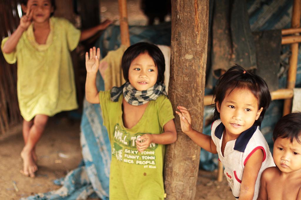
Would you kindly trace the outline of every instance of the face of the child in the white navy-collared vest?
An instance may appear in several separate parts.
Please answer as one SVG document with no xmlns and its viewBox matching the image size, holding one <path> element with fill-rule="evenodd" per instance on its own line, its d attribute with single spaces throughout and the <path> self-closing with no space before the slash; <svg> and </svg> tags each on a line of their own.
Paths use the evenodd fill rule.
<svg viewBox="0 0 301 200">
<path fill-rule="evenodd" d="M 228 90 L 221 104 L 217 102 L 217 110 L 226 134 L 237 138 L 240 133 L 253 126 L 259 118 L 262 108 L 258 109 L 258 99 L 247 88 Z"/>
</svg>

